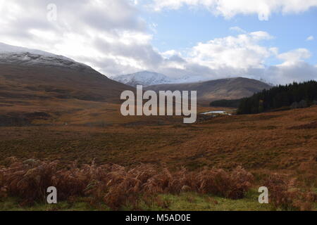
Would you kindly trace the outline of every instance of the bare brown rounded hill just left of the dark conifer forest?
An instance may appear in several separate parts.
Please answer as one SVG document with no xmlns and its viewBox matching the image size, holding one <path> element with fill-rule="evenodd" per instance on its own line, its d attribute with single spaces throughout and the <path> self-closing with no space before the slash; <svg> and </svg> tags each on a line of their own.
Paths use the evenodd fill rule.
<svg viewBox="0 0 317 225">
<path fill-rule="evenodd" d="M 270 85 L 258 80 L 238 77 L 187 84 L 161 84 L 148 86 L 146 89 L 153 91 L 197 91 L 197 98 L 200 100 L 213 101 L 244 98 L 270 88 Z"/>
</svg>

